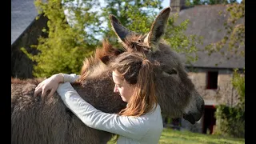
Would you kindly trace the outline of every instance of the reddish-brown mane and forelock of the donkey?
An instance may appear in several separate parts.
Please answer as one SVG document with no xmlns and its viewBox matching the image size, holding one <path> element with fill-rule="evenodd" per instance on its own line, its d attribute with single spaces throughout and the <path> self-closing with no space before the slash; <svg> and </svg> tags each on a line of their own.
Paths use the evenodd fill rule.
<svg viewBox="0 0 256 144">
<path fill-rule="evenodd" d="M 107 40 L 102 41 L 102 47 L 98 47 L 90 58 L 85 58 L 81 69 L 81 78 L 78 82 L 84 82 L 86 78 L 95 78 L 108 70 L 107 65 L 123 52 L 147 53 L 150 47 L 143 43 L 146 35 L 130 34 L 122 42 L 122 48 L 114 48 Z"/>
</svg>

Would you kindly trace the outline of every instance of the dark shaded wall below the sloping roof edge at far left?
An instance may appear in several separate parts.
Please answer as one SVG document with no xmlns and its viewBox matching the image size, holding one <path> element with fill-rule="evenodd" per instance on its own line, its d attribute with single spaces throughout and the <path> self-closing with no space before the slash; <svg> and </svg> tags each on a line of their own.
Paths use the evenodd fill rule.
<svg viewBox="0 0 256 144">
<path fill-rule="evenodd" d="M 33 62 L 27 58 L 20 49 L 25 49 L 30 54 L 37 54 L 38 51 L 30 48 L 31 45 L 38 44 L 39 36 L 46 37 L 42 32 L 42 28 L 47 26 L 47 18 L 39 16 L 38 20 L 34 20 L 30 26 L 19 36 L 19 38 L 11 46 L 11 77 L 14 78 L 33 78 Z"/>
</svg>

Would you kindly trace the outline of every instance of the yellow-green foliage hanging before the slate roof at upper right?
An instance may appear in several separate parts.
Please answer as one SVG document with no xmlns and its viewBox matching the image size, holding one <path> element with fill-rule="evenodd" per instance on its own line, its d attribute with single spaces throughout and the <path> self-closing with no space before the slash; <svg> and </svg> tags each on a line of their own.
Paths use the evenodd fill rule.
<svg viewBox="0 0 256 144">
<path fill-rule="evenodd" d="M 228 45 L 226 52 L 230 52 L 233 57 L 244 57 L 244 50 L 241 48 L 245 45 L 245 0 L 228 5 L 226 11 L 220 11 L 219 14 L 220 16 L 228 14 L 228 18 L 223 24 L 226 34 L 220 41 L 206 46 L 205 50 L 209 55 L 216 52 L 224 56 L 226 53 L 222 51 L 222 48 Z"/>
</svg>

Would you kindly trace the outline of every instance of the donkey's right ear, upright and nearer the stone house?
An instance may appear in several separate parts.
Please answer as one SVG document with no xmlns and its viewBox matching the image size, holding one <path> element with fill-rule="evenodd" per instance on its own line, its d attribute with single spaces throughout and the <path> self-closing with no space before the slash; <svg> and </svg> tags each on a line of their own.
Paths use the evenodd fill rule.
<svg viewBox="0 0 256 144">
<path fill-rule="evenodd" d="M 167 20 L 170 15 L 170 7 L 165 8 L 158 14 L 157 18 L 155 18 L 151 28 L 150 32 L 147 34 L 146 38 L 144 39 L 144 43 L 147 44 L 147 46 L 150 46 L 152 48 L 152 51 L 155 52 L 158 49 L 158 42 L 163 34 L 166 32 L 166 25 Z"/>
</svg>

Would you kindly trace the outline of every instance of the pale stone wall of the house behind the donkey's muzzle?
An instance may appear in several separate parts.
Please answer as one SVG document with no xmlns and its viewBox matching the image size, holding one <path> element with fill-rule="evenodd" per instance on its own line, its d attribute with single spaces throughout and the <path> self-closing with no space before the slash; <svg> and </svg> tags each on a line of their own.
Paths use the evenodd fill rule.
<svg viewBox="0 0 256 144">
<path fill-rule="evenodd" d="M 218 89 L 207 90 L 207 71 L 218 70 Z M 227 106 L 234 106 L 238 103 L 238 93 L 234 90 L 231 78 L 233 70 L 230 69 L 198 69 L 194 72 L 188 73 L 190 79 L 194 83 L 194 86 L 198 90 L 199 94 L 205 100 L 205 104 L 208 106 L 216 106 L 219 104 L 225 104 Z M 202 116 L 203 118 L 203 116 Z M 194 125 L 190 124 L 186 120 L 182 119 L 182 130 L 190 130 L 196 133 L 202 133 L 202 118 Z"/>
</svg>

